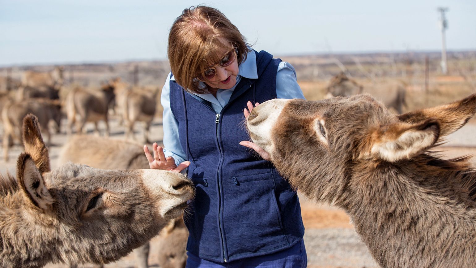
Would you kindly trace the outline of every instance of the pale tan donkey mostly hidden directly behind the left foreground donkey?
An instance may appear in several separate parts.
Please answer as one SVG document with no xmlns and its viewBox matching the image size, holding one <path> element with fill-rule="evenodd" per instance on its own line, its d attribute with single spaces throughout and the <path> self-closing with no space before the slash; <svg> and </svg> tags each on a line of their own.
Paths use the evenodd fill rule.
<svg viewBox="0 0 476 268">
<path fill-rule="evenodd" d="M 108 137 L 74 135 L 61 149 L 58 165 L 67 162 L 85 164 L 102 169 L 148 169 L 149 161 L 143 146 L 129 141 Z M 187 260 L 186 246 L 188 230 L 183 220 L 174 220 L 160 234 L 159 266 L 182 268 Z M 147 268 L 149 243 L 134 250 L 136 267 Z"/>
</svg>

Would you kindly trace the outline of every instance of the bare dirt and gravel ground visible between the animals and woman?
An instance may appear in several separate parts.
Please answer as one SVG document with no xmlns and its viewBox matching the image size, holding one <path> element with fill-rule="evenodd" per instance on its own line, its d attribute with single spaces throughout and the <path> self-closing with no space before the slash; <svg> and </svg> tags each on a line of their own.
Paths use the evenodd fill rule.
<svg viewBox="0 0 476 268">
<path fill-rule="evenodd" d="M 87 125 L 92 134 L 93 125 Z M 462 129 L 447 138 L 447 143 L 439 149 L 445 157 L 455 157 L 461 155 L 471 155 L 476 153 L 476 137 L 472 133 L 476 132 L 476 124 L 470 122 Z M 65 130 L 62 129 L 62 133 Z M 142 137 L 141 127 L 136 126 L 137 137 Z M 157 119 L 151 130 L 151 140 L 162 142 L 162 124 Z M 123 139 L 124 132 L 117 120 L 111 120 L 111 138 Z M 50 157 L 52 167 L 56 167 L 56 160 L 60 152 L 61 145 L 67 141 L 65 134 L 54 134 L 53 145 L 50 147 Z M 139 143 L 141 141 L 139 140 Z M 149 144 L 150 145 L 150 144 Z M 20 146 L 15 146 L 10 150 L 10 162 L 5 163 L 0 160 L 2 173 L 7 170 L 10 173 L 15 171 L 16 157 L 20 154 Z M 472 158 L 472 163 L 476 165 L 476 158 Z M 336 207 L 324 204 L 316 204 L 300 195 L 302 216 L 305 232 L 305 244 L 308 257 L 308 268 L 373 268 L 377 267 L 367 247 L 360 241 L 354 231 L 346 213 Z M 150 267 L 158 266 L 158 243 L 156 239 L 151 241 Z M 64 265 L 46 266 L 47 268 L 65 268 Z M 84 265 L 80 267 L 91 267 Z M 117 262 L 106 265 L 107 268 L 132 268 L 134 267 L 134 256 L 129 255 Z"/>
</svg>

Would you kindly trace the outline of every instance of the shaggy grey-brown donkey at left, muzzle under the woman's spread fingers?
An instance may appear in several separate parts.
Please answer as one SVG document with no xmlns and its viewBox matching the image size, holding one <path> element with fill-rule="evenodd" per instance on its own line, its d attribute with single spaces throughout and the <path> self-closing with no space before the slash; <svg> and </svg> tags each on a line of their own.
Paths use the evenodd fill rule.
<svg viewBox="0 0 476 268">
<path fill-rule="evenodd" d="M 50 170 L 35 116 L 23 122 L 17 178 L 0 176 L 0 267 L 108 263 L 156 236 L 194 196 L 189 180 L 159 170 Z"/>
</svg>

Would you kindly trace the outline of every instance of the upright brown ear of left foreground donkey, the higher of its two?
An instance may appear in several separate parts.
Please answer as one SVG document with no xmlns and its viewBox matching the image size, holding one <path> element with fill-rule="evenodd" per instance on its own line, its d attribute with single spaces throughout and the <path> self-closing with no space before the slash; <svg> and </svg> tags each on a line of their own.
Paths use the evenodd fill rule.
<svg viewBox="0 0 476 268">
<path fill-rule="evenodd" d="M 50 156 L 40 133 L 38 118 L 29 113 L 23 118 L 23 145 L 41 174 L 50 172 Z"/>
</svg>

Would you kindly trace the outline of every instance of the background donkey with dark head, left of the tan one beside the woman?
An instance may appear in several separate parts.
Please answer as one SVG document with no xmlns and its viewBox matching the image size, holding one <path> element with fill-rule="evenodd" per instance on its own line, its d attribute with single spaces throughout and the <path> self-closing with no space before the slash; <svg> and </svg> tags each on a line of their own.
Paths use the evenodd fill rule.
<svg viewBox="0 0 476 268">
<path fill-rule="evenodd" d="M 94 122 L 96 133 L 99 133 L 98 122 L 104 120 L 106 124 L 105 135 L 109 136 L 108 110 L 114 101 L 114 82 L 103 84 L 97 92 L 75 88 L 68 93 L 65 102 L 66 115 L 68 117 L 68 134 L 71 134 L 73 124 L 78 120 L 76 131 L 84 132 L 86 122 Z"/>
</svg>

